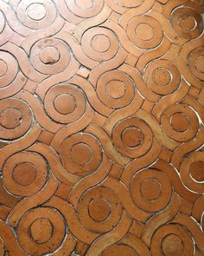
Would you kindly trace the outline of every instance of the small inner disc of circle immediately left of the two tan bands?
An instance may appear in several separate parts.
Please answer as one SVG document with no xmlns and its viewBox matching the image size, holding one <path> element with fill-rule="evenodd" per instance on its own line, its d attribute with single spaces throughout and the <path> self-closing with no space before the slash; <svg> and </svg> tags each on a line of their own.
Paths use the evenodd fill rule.
<svg viewBox="0 0 204 256">
<path fill-rule="evenodd" d="M 73 145 L 70 151 L 70 157 L 76 164 L 84 166 L 92 158 L 92 149 L 84 143 Z"/>
</svg>

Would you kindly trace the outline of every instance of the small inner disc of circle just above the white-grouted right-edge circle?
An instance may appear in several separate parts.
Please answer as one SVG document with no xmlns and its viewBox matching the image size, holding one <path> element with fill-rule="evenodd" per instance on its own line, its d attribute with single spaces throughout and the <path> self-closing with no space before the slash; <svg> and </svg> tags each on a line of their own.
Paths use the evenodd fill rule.
<svg viewBox="0 0 204 256">
<path fill-rule="evenodd" d="M 184 132 L 189 127 L 188 117 L 182 113 L 175 113 L 171 116 L 170 124 L 175 131 Z"/>
</svg>

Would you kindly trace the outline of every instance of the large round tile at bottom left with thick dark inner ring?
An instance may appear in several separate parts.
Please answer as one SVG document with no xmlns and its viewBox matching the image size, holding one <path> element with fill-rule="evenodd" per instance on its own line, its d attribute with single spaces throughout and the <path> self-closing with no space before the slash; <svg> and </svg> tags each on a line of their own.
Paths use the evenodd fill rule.
<svg viewBox="0 0 204 256">
<path fill-rule="evenodd" d="M 65 236 L 65 224 L 54 208 L 38 207 L 22 216 L 17 238 L 22 249 L 31 255 L 54 252 Z"/>
</svg>

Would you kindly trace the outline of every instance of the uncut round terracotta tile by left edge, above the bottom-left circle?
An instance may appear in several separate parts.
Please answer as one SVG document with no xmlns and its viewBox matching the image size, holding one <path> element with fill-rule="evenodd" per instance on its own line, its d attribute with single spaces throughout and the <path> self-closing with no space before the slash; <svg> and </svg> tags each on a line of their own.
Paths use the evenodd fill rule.
<svg viewBox="0 0 204 256">
<path fill-rule="evenodd" d="M 5 161 L 3 185 L 11 194 L 29 196 L 41 190 L 48 170 L 40 154 L 20 152 Z"/>
</svg>

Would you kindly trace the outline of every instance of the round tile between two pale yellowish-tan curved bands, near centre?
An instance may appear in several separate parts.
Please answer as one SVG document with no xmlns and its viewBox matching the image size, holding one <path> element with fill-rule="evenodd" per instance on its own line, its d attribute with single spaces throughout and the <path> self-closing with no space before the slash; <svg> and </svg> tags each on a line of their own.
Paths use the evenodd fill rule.
<svg viewBox="0 0 204 256">
<path fill-rule="evenodd" d="M 152 133 L 143 120 L 131 117 L 119 121 L 113 128 L 112 141 L 118 152 L 135 158 L 142 156 L 150 149 Z"/>
</svg>

